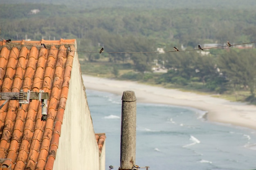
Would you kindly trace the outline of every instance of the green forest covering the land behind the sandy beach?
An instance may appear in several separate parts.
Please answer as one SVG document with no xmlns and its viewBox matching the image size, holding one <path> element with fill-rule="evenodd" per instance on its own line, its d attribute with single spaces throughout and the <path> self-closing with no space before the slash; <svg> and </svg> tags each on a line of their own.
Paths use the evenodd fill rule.
<svg viewBox="0 0 256 170">
<path fill-rule="evenodd" d="M 152 2 L 151 2 L 152 1 Z M 184 0 L 183 0 L 184 1 Z M 180 1 L 141 0 L 106 2 L 77 0 L 73 5 L 0 2 L 0 37 L 31 40 L 76 39 L 83 73 L 132 79 L 168 88 L 218 93 L 230 100 L 256 103 L 256 49 L 237 46 L 197 49 L 198 44 L 225 46 L 256 41 L 256 2 L 215 0 L 195 4 Z M 9 1 L 10 3 L 12 1 Z M 23 2 L 23 1 L 20 1 Z M 55 1 L 54 1 L 55 2 Z M 100 3 L 101 2 L 101 3 Z M 198 1 L 200 2 L 200 0 Z M 205 2 L 205 1 L 204 1 Z M 231 4 L 229 2 L 232 2 Z M 39 2 L 38 2 L 39 3 Z M 120 4 L 121 3 L 121 4 Z M 182 4 L 183 3 L 183 4 Z M 229 3 L 229 4 L 228 4 Z M 239 5 L 238 5 L 239 4 Z M 40 12 L 33 14 L 32 9 Z M 153 67 L 164 70 L 156 73 Z"/>
</svg>

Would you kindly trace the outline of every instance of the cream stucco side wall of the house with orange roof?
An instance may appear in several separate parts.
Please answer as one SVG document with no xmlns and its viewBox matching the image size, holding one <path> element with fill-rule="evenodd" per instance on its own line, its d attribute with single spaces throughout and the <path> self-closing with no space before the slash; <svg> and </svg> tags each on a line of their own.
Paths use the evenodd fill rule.
<svg viewBox="0 0 256 170">
<path fill-rule="evenodd" d="M 105 170 L 105 146 L 100 158 L 77 53 L 53 169 Z"/>
</svg>

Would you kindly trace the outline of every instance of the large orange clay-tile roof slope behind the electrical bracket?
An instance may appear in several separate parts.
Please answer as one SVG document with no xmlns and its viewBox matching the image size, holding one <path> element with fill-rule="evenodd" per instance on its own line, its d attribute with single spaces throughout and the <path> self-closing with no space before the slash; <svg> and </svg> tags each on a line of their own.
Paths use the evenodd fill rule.
<svg viewBox="0 0 256 170">
<path fill-rule="evenodd" d="M 0 93 L 49 93 L 47 121 L 40 101 L 0 109 L 0 168 L 52 170 L 61 135 L 76 40 L 0 42 Z M 41 47 L 44 43 L 47 49 Z M 70 46 L 74 51 L 67 51 Z M 4 101 L 0 101 L 0 106 Z"/>
</svg>

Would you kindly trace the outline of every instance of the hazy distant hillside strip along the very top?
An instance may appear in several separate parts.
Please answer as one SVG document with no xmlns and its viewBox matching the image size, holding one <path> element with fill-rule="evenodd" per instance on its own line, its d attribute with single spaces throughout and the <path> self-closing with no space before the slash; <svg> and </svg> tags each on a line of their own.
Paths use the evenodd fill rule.
<svg viewBox="0 0 256 170">
<path fill-rule="evenodd" d="M 17 0 L 0 0 L 0 4 L 16 4 Z M 254 9 L 256 0 L 19 0 L 18 3 L 66 5 L 69 8 L 129 7 L 142 9 Z"/>
</svg>

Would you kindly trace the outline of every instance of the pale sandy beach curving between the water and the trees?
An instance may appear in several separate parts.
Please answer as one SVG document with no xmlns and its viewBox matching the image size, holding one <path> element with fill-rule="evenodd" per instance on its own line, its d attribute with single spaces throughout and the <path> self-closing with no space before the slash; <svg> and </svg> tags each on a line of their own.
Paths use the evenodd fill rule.
<svg viewBox="0 0 256 170">
<path fill-rule="evenodd" d="M 132 81 L 119 81 L 100 77 L 82 75 L 85 89 L 105 91 L 122 95 L 124 91 L 134 91 L 137 102 L 186 106 L 207 112 L 206 118 L 235 126 L 256 130 L 256 106 L 241 102 L 182 92 L 156 86 L 139 84 Z M 121 98 L 120 98 L 121 100 Z"/>
</svg>

